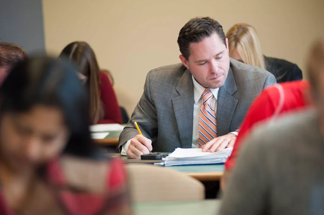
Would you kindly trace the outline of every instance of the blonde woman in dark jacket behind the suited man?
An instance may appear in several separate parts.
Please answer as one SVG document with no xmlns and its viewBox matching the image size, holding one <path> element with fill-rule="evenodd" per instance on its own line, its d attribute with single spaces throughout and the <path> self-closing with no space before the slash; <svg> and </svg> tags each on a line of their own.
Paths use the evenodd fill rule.
<svg viewBox="0 0 324 215">
<path fill-rule="evenodd" d="M 226 38 L 229 57 L 268 70 L 276 77 L 278 83 L 303 79 L 302 71 L 296 64 L 262 54 L 254 27 L 245 23 L 235 24 L 226 33 Z"/>
</svg>

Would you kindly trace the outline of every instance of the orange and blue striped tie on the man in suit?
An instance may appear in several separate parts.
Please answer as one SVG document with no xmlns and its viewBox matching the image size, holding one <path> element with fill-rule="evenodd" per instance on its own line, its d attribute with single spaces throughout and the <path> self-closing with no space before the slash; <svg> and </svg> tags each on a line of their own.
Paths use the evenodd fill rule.
<svg viewBox="0 0 324 215">
<path fill-rule="evenodd" d="M 217 137 L 216 114 L 210 104 L 213 97 L 209 88 L 203 91 L 203 105 L 199 113 L 199 148 Z"/>
</svg>

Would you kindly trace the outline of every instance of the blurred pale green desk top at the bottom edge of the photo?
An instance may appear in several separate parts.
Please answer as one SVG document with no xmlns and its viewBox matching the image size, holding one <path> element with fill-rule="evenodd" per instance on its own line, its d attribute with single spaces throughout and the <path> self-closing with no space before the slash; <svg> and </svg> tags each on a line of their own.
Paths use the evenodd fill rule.
<svg viewBox="0 0 324 215">
<path fill-rule="evenodd" d="M 220 208 L 220 200 L 196 202 L 139 202 L 133 204 L 135 215 L 215 215 Z"/>
</svg>

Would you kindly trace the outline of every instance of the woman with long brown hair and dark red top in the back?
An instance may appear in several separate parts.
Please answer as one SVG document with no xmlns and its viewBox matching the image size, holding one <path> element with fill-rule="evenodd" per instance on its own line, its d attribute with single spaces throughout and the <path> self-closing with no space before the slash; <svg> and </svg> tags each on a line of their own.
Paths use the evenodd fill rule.
<svg viewBox="0 0 324 215">
<path fill-rule="evenodd" d="M 86 85 L 90 96 L 91 124 L 122 123 L 121 112 L 112 85 L 103 72 L 92 48 L 86 42 L 73 42 L 60 54 L 78 68 L 77 74 Z"/>
</svg>

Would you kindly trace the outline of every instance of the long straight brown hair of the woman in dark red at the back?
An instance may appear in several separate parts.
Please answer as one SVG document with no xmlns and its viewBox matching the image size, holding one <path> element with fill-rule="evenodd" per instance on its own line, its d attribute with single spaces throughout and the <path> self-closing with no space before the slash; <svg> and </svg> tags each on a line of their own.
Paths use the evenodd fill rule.
<svg viewBox="0 0 324 215">
<path fill-rule="evenodd" d="M 87 76 L 87 87 L 90 96 L 90 122 L 97 124 L 102 118 L 103 107 L 99 97 L 99 66 L 96 55 L 86 42 L 73 42 L 67 45 L 60 54 L 73 61 L 78 72 Z"/>
</svg>

